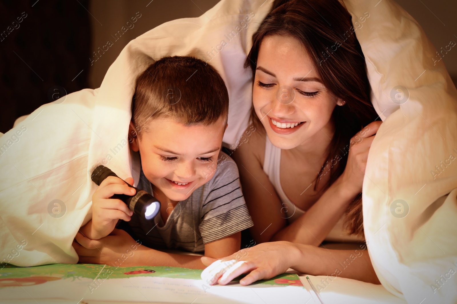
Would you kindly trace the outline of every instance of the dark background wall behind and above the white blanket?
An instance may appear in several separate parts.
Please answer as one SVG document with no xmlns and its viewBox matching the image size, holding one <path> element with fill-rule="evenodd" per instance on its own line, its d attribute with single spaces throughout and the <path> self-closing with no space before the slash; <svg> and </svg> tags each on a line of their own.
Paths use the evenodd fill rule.
<svg viewBox="0 0 457 304">
<path fill-rule="evenodd" d="M 419 22 L 437 50 L 451 40 L 457 42 L 457 1 L 397 2 Z M 128 41 L 166 21 L 200 16 L 216 3 L 218 0 L 2 0 L 0 34 L 6 31 L 8 35 L 0 37 L 0 132 L 11 129 L 18 117 L 53 101 L 53 93 L 55 99 L 83 88 L 98 88 Z M 141 17 L 134 27 L 90 65 L 93 52 L 137 12 Z M 17 18 L 25 14 L 18 23 Z M 8 32 L 13 21 L 19 27 Z M 456 83 L 457 47 L 442 60 Z"/>
</svg>

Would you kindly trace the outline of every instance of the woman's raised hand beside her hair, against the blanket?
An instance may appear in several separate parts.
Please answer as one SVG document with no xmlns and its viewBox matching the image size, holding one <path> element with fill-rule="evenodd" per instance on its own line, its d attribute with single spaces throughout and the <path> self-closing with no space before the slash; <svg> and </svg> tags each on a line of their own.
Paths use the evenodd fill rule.
<svg viewBox="0 0 457 304">
<path fill-rule="evenodd" d="M 342 189 L 349 191 L 349 196 L 355 197 L 362 191 L 368 151 L 381 124 L 381 121 L 373 121 L 357 132 L 349 142 L 347 164 L 339 178 L 340 182 L 344 184 Z"/>
</svg>

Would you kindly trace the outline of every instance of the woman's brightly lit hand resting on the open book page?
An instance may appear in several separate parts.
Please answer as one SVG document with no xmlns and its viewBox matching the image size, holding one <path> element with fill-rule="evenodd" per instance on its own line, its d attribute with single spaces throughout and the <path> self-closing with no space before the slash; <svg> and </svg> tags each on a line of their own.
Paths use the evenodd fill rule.
<svg viewBox="0 0 457 304">
<path fill-rule="evenodd" d="M 249 285 L 286 272 L 298 256 L 298 248 L 292 242 L 267 242 L 219 260 L 202 257 L 202 263 L 208 266 L 202 272 L 202 279 L 210 285 L 225 285 L 240 274 L 249 272 L 239 281 L 241 285 Z"/>
</svg>

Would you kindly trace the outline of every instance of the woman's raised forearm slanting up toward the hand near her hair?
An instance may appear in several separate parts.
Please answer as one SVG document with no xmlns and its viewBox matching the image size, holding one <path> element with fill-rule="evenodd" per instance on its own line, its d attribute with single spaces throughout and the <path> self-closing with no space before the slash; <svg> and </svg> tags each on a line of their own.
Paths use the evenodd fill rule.
<svg viewBox="0 0 457 304">
<path fill-rule="evenodd" d="M 271 241 L 289 241 L 319 246 L 344 214 L 356 194 L 345 191 L 336 180 L 319 200 L 296 221 L 276 232 Z"/>
</svg>

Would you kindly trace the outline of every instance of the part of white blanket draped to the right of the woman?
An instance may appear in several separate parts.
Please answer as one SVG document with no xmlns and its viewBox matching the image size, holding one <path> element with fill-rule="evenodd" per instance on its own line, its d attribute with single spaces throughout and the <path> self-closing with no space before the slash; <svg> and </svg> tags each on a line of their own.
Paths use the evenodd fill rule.
<svg viewBox="0 0 457 304">
<path fill-rule="evenodd" d="M 373 266 L 384 287 L 408 303 L 456 303 L 456 88 L 422 28 L 398 4 L 345 4 L 383 119 L 362 191 Z"/>
</svg>

